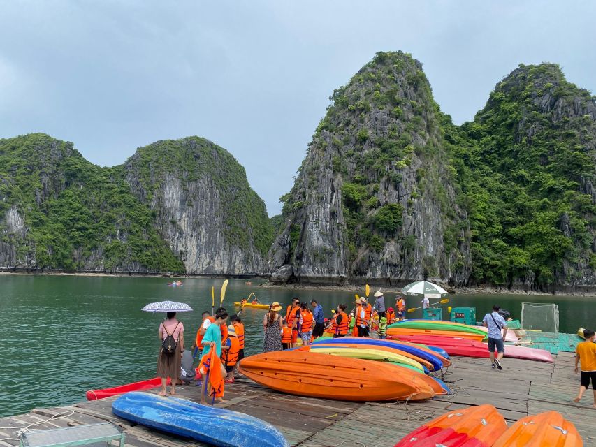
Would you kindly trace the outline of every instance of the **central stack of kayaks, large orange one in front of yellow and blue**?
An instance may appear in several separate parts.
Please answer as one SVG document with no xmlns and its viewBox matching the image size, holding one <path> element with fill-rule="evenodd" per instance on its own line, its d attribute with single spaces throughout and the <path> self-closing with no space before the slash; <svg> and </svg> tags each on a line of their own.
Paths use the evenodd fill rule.
<svg viewBox="0 0 596 447">
<path fill-rule="evenodd" d="M 425 400 L 450 393 L 437 377 L 449 365 L 449 355 L 440 348 L 347 337 L 250 356 L 240 362 L 240 372 L 264 386 L 300 396 Z"/>
</svg>

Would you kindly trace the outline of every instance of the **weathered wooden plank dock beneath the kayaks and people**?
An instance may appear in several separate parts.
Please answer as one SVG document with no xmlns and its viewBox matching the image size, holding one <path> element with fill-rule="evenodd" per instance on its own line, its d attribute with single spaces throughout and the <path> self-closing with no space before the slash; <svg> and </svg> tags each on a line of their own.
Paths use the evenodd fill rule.
<svg viewBox="0 0 596 447">
<path fill-rule="evenodd" d="M 558 353 L 554 363 L 506 358 L 501 372 L 491 369 L 488 359 L 453 358 L 453 367 L 446 371 L 444 380 L 455 394 L 408 404 L 339 402 L 284 395 L 240 379 L 226 386 L 228 402 L 221 406 L 272 423 L 292 446 L 298 447 L 391 447 L 408 432 L 446 411 L 485 403 L 495 405 L 508 423 L 528 414 L 559 411 L 575 424 L 584 446 L 596 446 L 596 410 L 592 408 L 591 389 L 579 404 L 571 402 L 579 386 L 579 374 L 574 374 L 573 366 L 573 353 L 565 352 Z M 178 397 L 199 399 L 200 388 L 194 384 L 177 390 Z M 130 447 L 205 446 L 117 418 L 111 411 L 113 400 L 34 409 L 0 419 L 0 427 L 22 427 L 68 411 L 66 417 L 43 422 L 31 430 L 110 420 L 126 432 L 126 445 Z M 17 429 L 0 428 L 0 438 L 4 437 L 16 438 Z M 1 446 L 17 444 L 12 439 L 0 441 Z"/>
</svg>

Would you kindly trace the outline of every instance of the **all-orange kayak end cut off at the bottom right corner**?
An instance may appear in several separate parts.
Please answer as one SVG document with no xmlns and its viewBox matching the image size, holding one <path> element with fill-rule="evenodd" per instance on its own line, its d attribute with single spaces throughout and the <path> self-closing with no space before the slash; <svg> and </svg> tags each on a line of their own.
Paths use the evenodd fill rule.
<svg viewBox="0 0 596 447">
<path fill-rule="evenodd" d="M 493 447 L 581 447 L 575 426 L 557 411 L 521 418 L 497 439 Z"/>
</svg>

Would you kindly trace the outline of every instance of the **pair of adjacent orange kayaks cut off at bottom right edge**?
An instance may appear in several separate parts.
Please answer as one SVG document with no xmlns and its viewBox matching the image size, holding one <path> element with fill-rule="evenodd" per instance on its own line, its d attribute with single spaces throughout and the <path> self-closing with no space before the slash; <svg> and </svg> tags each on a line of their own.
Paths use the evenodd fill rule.
<svg viewBox="0 0 596 447">
<path fill-rule="evenodd" d="M 445 413 L 410 432 L 395 447 L 582 447 L 574 425 L 548 411 L 518 420 L 507 429 L 494 406 Z"/>
</svg>

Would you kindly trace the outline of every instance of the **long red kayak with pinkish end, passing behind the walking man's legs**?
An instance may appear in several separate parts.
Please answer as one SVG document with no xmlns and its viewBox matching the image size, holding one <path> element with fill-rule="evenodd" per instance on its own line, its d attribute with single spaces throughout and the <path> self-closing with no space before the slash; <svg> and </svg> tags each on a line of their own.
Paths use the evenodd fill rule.
<svg viewBox="0 0 596 447">
<path fill-rule="evenodd" d="M 400 335 L 400 340 L 421 343 L 443 348 L 450 356 L 488 358 L 488 344 L 458 337 L 439 337 L 437 335 Z M 505 345 L 505 357 L 535 360 L 552 363 L 553 356 L 544 349 L 528 346 Z"/>
</svg>

